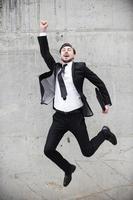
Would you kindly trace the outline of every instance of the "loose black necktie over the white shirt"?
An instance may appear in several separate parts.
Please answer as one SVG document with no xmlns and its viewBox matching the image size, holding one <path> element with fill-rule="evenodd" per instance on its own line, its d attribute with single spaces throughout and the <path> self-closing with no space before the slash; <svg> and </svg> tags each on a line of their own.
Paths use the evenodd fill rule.
<svg viewBox="0 0 133 200">
<path fill-rule="evenodd" d="M 62 73 L 65 73 L 65 67 L 67 66 L 67 64 L 64 64 L 61 68 L 61 71 L 58 74 L 58 81 L 59 81 L 59 86 L 60 86 L 60 91 L 61 91 L 61 97 L 66 100 L 66 96 L 67 96 L 67 90 L 66 90 L 66 86 L 64 83 L 64 80 L 62 78 Z"/>
</svg>

